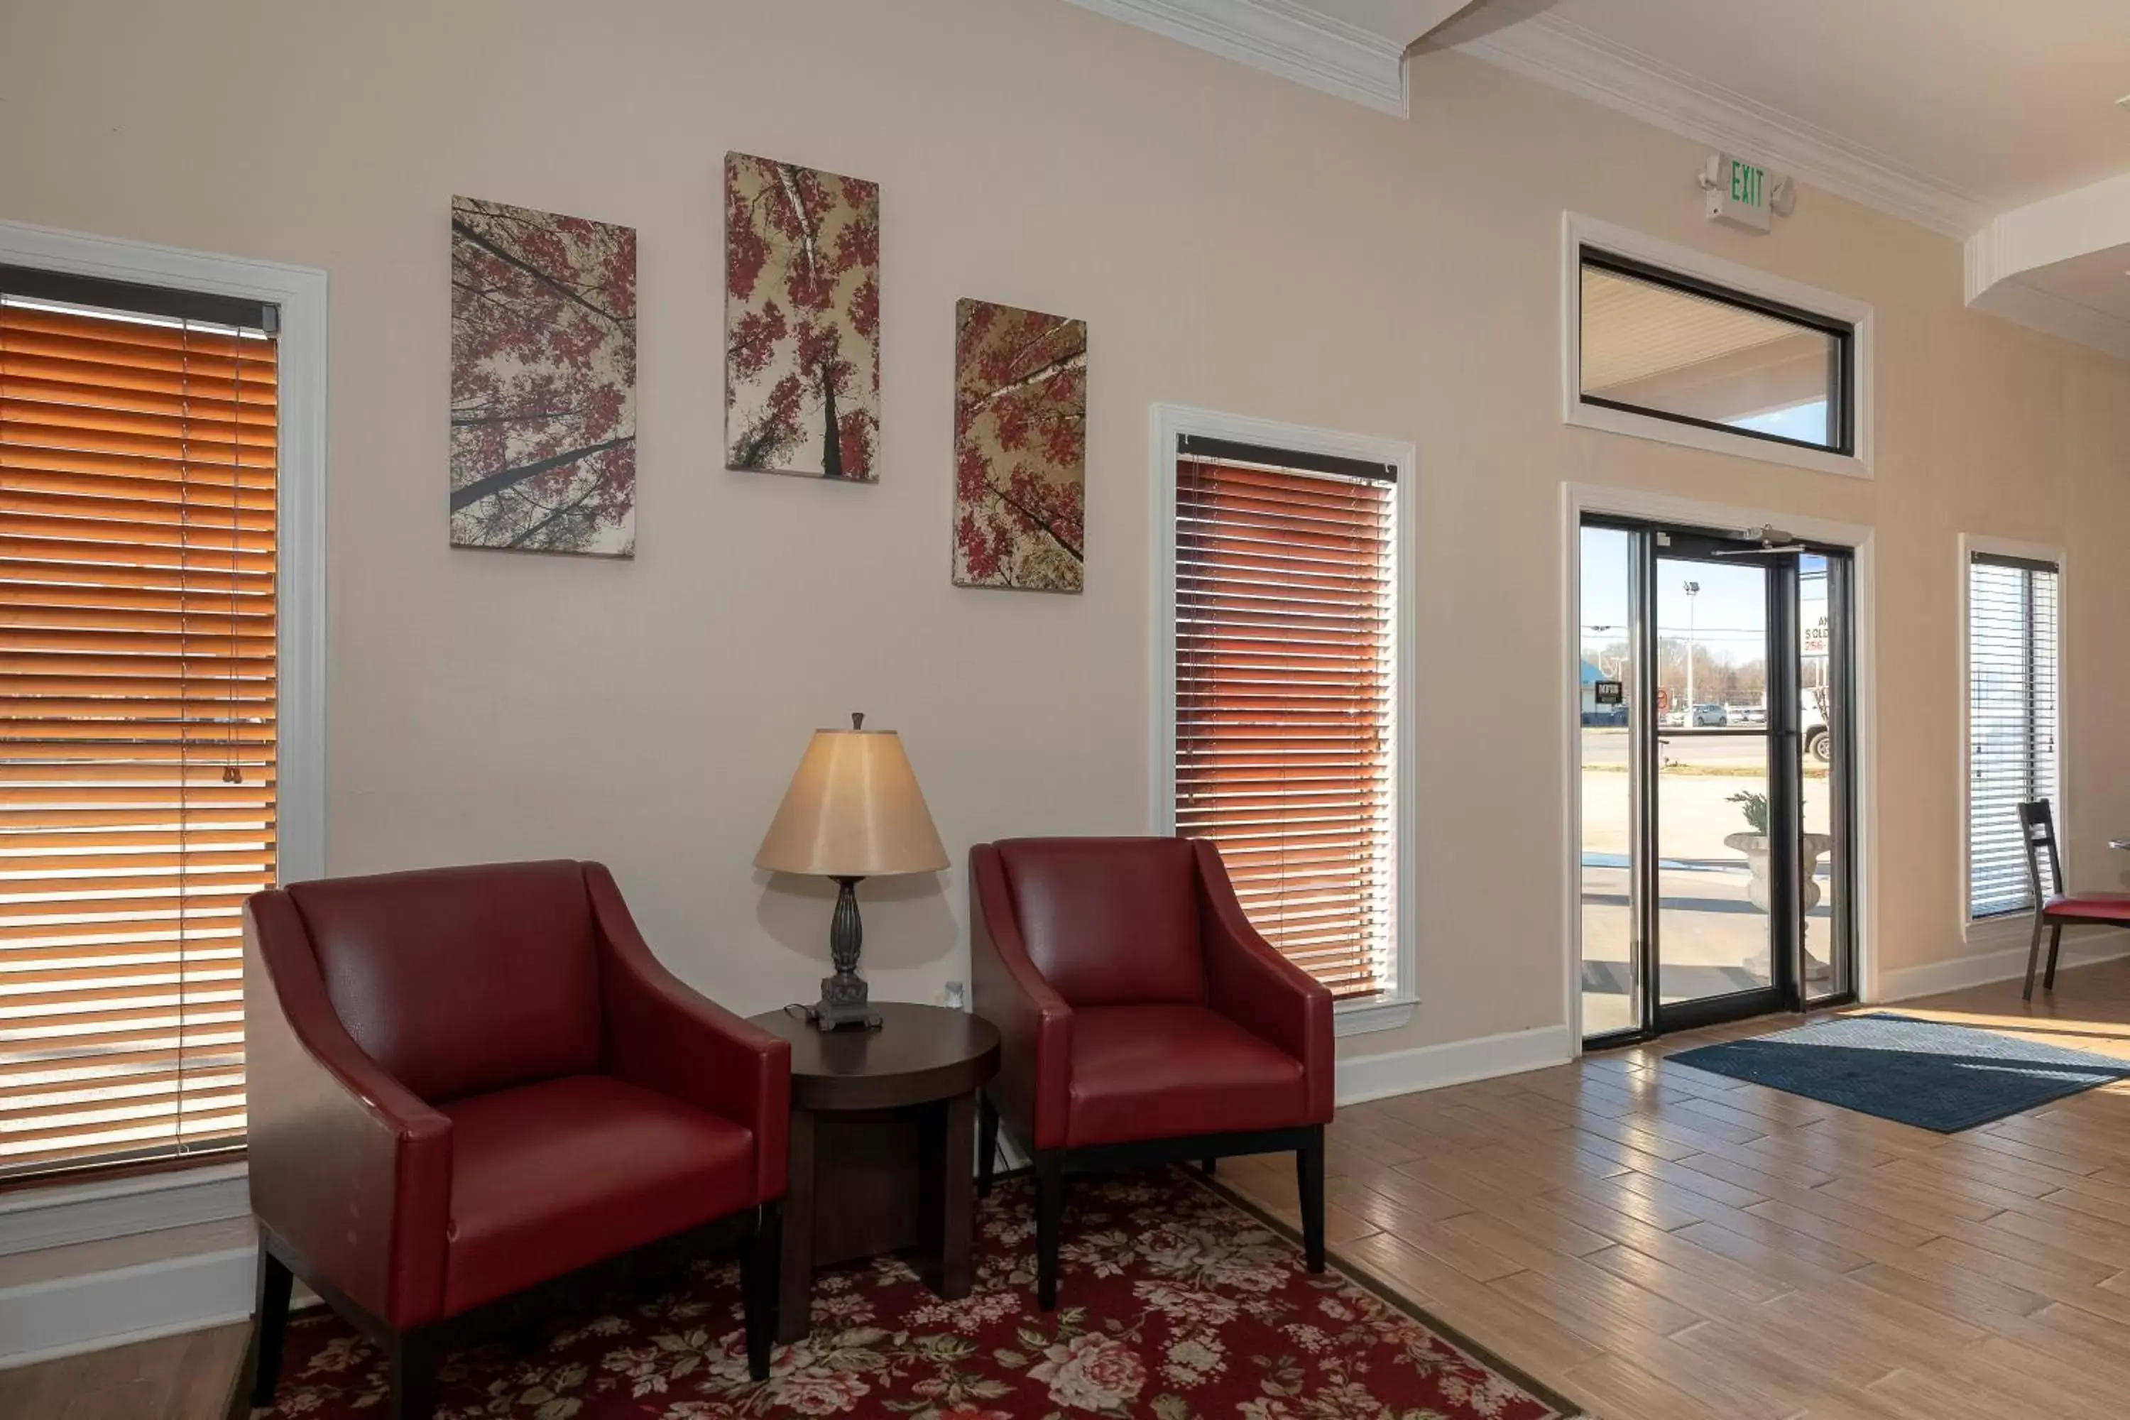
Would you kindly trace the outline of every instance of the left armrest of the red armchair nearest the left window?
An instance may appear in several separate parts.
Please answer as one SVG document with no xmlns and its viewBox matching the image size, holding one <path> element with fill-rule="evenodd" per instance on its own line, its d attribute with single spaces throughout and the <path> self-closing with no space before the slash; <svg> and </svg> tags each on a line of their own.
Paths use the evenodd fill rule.
<svg viewBox="0 0 2130 1420">
<path fill-rule="evenodd" d="M 251 1211 L 392 1326 L 443 1314 L 452 1122 L 356 1045 L 285 892 L 245 903 Z"/>
</svg>

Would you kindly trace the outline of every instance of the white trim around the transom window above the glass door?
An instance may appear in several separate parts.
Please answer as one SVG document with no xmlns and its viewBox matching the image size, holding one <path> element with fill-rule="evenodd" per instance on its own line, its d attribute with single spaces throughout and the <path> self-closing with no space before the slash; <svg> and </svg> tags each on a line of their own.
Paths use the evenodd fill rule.
<svg viewBox="0 0 2130 1420">
<path fill-rule="evenodd" d="M 1646 262 L 1661 270 L 1676 270 L 1683 277 L 1710 281 L 1744 296 L 1776 300 L 1785 307 L 1813 311 L 1828 319 L 1838 319 L 1855 328 L 1851 362 L 1855 366 L 1855 453 L 1834 453 L 1830 449 L 1806 449 L 1802 445 L 1753 439 L 1725 430 L 1678 424 L 1657 415 L 1634 413 L 1629 409 L 1608 409 L 1583 402 L 1583 247 L 1610 251 L 1612 255 Z M 1764 464 L 1787 464 L 1810 468 L 1813 473 L 1838 473 L 1851 479 L 1872 477 L 1872 307 L 1868 302 L 1823 292 L 1815 285 L 1774 277 L 1738 262 L 1681 247 L 1676 243 L 1644 236 L 1610 221 L 1598 221 L 1580 213 L 1566 213 L 1561 221 L 1561 419 L 1578 428 L 1604 430 L 1608 434 L 1632 434 L 1676 443 L 1708 453 L 1734 453 Z"/>
</svg>

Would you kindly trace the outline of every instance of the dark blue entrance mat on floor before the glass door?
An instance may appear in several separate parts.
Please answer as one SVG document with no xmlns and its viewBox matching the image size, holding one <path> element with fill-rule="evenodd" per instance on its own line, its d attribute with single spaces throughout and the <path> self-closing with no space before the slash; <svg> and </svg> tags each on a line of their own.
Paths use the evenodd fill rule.
<svg viewBox="0 0 2130 1420">
<path fill-rule="evenodd" d="M 1672 1060 L 1940 1135 L 2130 1079 L 2130 1060 L 1913 1016 L 1840 1016 Z"/>
</svg>

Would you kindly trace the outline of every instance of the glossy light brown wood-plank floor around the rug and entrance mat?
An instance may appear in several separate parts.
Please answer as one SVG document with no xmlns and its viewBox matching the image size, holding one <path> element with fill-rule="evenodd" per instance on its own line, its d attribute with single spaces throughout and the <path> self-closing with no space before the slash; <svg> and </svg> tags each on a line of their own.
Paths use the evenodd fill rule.
<svg viewBox="0 0 2130 1420">
<path fill-rule="evenodd" d="M 1911 1016 L 2130 1058 L 2130 960 Z M 2130 1084 L 1943 1137 L 1691 1071 L 1774 1018 L 1342 1109 L 1329 1239 L 1604 1420 L 2130 1414 Z M 1293 1216 L 1293 1162 L 1220 1179 Z M 11 1420 L 219 1420 L 241 1326 L 0 1371 Z"/>
</svg>

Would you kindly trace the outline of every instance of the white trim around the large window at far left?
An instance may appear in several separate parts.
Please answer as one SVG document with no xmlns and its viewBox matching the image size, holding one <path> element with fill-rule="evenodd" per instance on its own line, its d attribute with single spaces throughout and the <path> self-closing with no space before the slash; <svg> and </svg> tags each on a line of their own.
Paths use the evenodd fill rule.
<svg viewBox="0 0 2130 1420">
<path fill-rule="evenodd" d="M 0 262 L 111 281 L 239 296 L 281 309 L 279 558 L 275 568 L 275 832 L 281 881 L 326 873 L 326 273 L 0 221 Z M 232 1216 L 243 1165 L 94 1184 L 55 1182 L 13 1196 L 32 1237 L 121 1237 Z M 236 1192 L 228 1188 L 239 1179 Z M 115 1201 L 124 1199 L 124 1205 Z M 204 1199 L 204 1203 L 202 1203 Z M 51 1209 L 32 1218 L 36 1209 Z M 224 1209 L 224 1211 L 217 1211 Z"/>
</svg>

